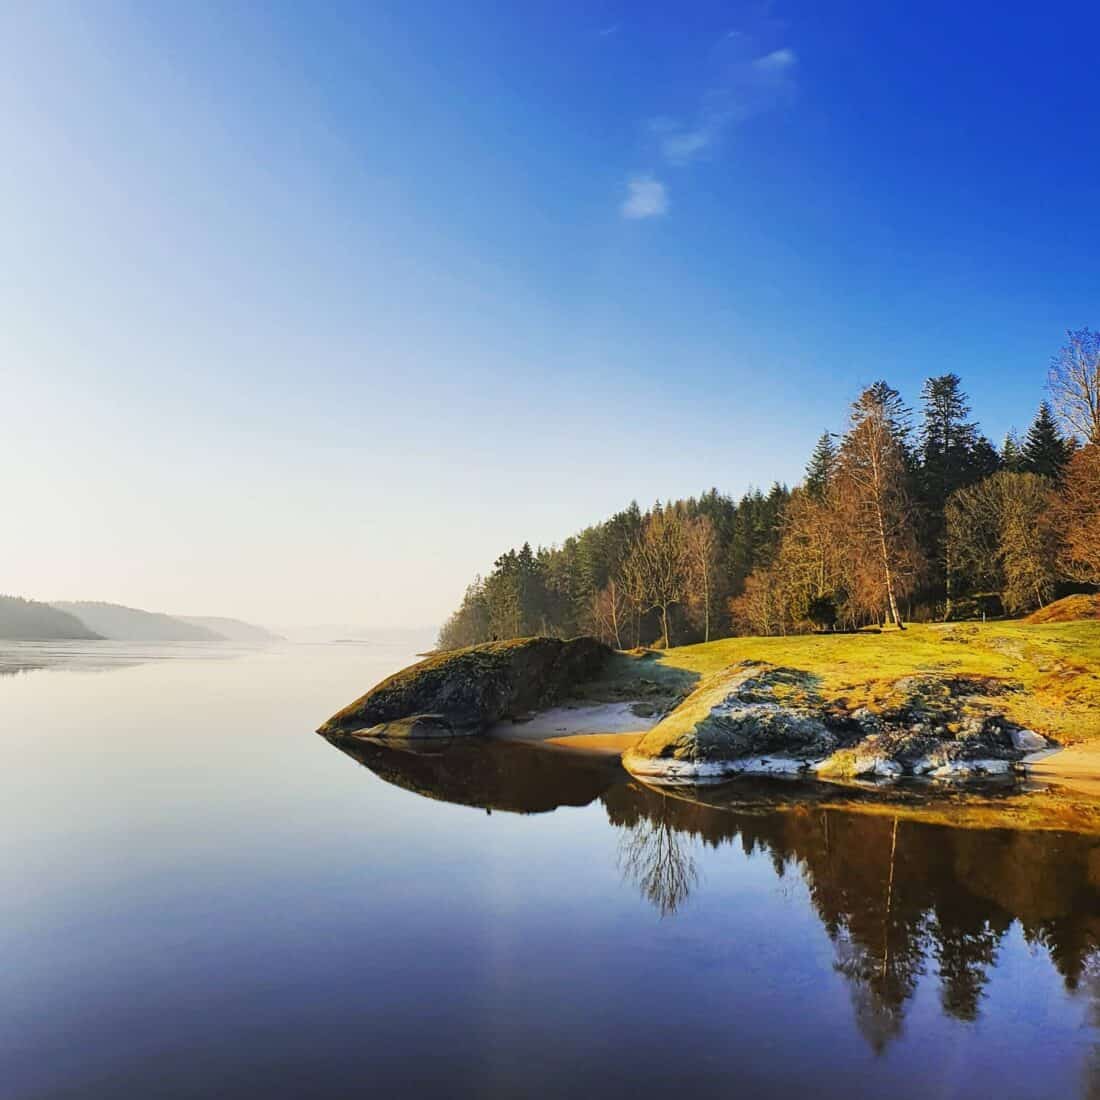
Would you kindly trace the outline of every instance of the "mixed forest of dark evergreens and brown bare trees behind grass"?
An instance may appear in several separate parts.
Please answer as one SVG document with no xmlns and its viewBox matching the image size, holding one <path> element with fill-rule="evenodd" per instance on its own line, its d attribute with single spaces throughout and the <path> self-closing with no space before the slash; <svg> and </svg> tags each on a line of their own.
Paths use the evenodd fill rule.
<svg viewBox="0 0 1100 1100">
<path fill-rule="evenodd" d="M 1070 331 L 1047 399 L 994 446 L 957 374 L 914 411 L 887 382 L 802 482 L 631 503 L 475 578 L 441 649 L 546 634 L 617 648 L 1016 616 L 1100 586 L 1100 332 Z"/>
</svg>

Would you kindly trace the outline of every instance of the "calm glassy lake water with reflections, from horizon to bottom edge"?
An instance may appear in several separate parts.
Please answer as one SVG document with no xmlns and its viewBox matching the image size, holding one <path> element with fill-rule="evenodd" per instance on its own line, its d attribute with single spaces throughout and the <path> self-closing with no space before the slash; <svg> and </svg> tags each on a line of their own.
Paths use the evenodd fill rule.
<svg viewBox="0 0 1100 1100">
<path fill-rule="evenodd" d="M 0 1094 L 1100 1096 L 1100 838 L 311 733 L 409 657 L 0 652 Z"/>
</svg>

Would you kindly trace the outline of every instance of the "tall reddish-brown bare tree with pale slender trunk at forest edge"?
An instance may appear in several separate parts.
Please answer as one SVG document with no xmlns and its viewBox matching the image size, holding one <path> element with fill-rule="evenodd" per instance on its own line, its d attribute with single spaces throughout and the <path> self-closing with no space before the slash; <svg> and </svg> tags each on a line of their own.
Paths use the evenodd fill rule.
<svg viewBox="0 0 1100 1100">
<path fill-rule="evenodd" d="M 898 597 L 914 584 L 920 563 L 906 418 L 898 391 L 884 382 L 865 389 L 851 407 L 837 470 L 854 594 L 868 609 L 884 607 L 899 630 L 905 626 Z"/>
</svg>

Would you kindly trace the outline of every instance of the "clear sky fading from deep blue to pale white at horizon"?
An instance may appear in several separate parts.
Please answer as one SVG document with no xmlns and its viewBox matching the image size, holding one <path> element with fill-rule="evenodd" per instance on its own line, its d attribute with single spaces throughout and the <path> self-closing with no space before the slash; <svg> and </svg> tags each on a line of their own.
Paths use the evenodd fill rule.
<svg viewBox="0 0 1100 1100">
<path fill-rule="evenodd" d="M 525 539 L 1026 428 L 1100 326 L 1096 4 L 0 9 L 0 591 L 440 623 Z"/>
</svg>

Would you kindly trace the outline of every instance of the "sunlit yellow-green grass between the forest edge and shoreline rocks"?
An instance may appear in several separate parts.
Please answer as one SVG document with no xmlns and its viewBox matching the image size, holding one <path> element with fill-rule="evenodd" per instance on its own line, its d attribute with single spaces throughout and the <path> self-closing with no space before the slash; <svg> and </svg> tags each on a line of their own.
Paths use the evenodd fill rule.
<svg viewBox="0 0 1100 1100">
<path fill-rule="evenodd" d="M 631 660 L 620 658 L 620 661 Z M 659 684 L 705 686 L 741 661 L 768 661 L 816 679 L 826 701 L 872 710 L 897 701 L 895 683 L 922 673 L 988 676 L 1008 718 L 1064 745 L 1100 740 L 1100 623 L 955 623 L 904 632 L 724 638 L 632 659 Z M 625 675 L 625 667 L 615 674 Z M 701 692 L 702 695 L 702 692 Z M 702 702 L 702 700 L 701 700 Z"/>
</svg>

